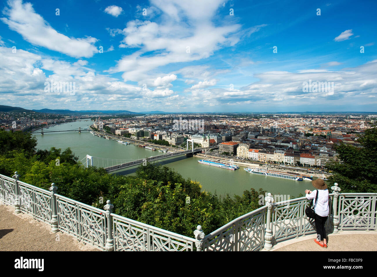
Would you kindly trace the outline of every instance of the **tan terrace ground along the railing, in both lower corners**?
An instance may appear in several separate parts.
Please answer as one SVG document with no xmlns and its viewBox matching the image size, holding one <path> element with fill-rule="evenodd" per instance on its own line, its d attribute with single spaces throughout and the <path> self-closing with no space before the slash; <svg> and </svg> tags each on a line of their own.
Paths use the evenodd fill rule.
<svg viewBox="0 0 377 277">
<path fill-rule="evenodd" d="M 14 207 L 0 205 L 0 251 L 100 251 L 64 233 L 51 233 L 51 226 Z M 328 248 L 314 243 L 316 234 L 274 245 L 270 251 L 377 251 L 376 231 L 341 231 L 329 234 Z M 265 251 L 265 250 L 262 250 Z"/>
</svg>

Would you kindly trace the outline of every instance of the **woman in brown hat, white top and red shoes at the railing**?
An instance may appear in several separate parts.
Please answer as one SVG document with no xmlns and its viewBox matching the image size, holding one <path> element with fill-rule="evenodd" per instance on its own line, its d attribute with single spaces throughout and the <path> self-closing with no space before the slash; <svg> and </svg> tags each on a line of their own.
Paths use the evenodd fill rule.
<svg viewBox="0 0 377 277">
<path fill-rule="evenodd" d="M 314 241 L 320 247 L 327 248 L 325 222 L 329 215 L 329 192 L 325 181 L 322 179 L 313 180 L 311 183 L 317 190 L 310 191 L 307 189 L 305 193 L 308 200 L 314 199 L 314 201 L 318 193 L 317 203 L 314 202 L 314 222 L 317 229 L 317 239 L 314 239 Z"/>
</svg>

